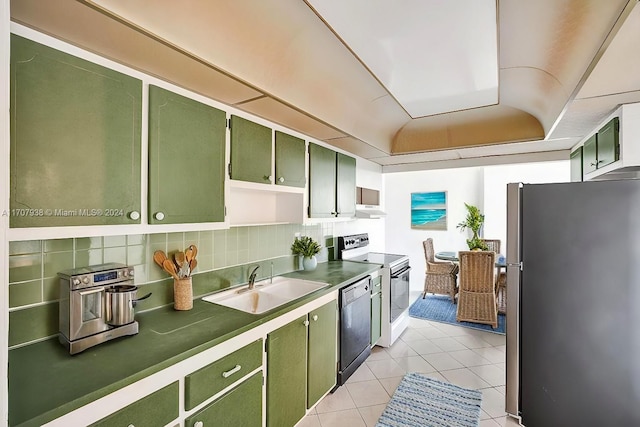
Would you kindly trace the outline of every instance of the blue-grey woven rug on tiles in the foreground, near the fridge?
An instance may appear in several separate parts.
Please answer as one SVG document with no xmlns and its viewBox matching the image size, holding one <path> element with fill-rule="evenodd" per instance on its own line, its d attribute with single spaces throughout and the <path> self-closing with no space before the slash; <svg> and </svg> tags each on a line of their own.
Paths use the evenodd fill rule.
<svg viewBox="0 0 640 427">
<path fill-rule="evenodd" d="M 428 378 L 404 376 L 376 427 L 476 427 L 482 393 Z"/>
</svg>

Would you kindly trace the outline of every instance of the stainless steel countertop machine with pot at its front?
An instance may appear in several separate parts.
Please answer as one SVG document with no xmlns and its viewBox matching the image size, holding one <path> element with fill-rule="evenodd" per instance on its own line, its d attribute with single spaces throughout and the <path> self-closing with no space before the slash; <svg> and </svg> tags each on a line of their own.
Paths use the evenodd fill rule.
<svg viewBox="0 0 640 427">
<path fill-rule="evenodd" d="M 60 342 L 76 354 L 138 333 L 133 319 L 133 267 L 109 263 L 66 270 L 60 277 Z M 145 299 L 151 294 L 145 295 Z"/>
</svg>

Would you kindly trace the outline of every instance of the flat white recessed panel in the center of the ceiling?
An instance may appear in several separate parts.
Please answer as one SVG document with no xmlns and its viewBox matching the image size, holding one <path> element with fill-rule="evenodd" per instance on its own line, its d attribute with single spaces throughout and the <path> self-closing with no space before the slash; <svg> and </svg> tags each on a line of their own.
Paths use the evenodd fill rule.
<svg viewBox="0 0 640 427">
<path fill-rule="evenodd" d="M 413 117 L 498 102 L 495 0 L 307 0 Z"/>
</svg>

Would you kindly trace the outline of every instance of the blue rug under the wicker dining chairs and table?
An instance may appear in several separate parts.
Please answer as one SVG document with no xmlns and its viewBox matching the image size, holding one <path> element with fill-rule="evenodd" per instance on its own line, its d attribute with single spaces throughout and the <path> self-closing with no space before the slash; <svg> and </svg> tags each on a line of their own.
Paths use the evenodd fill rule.
<svg viewBox="0 0 640 427">
<path fill-rule="evenodd" d="M 422 299 L 422 294 L 420 294 L 416 302 L 409 307 L 409 316 L 504 335 L 507 325 L 504 314 L 498 314 L 498 327 L 493 329 L 490 325 L 483 323 L 457 322 L 456 308 L 457 306 L 451 302 L 451 298 L 446 295 L 427 294 L 427 297 Z"/>
</svg>

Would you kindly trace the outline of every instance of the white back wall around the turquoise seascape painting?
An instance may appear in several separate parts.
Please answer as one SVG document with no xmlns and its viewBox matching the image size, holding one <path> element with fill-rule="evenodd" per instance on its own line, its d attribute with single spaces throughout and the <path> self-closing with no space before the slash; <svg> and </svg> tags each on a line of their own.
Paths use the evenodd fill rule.
<svg viewBox="0 0 640 427">
<path fill-rule="evenodd" d="M 517 165 L 439 169 L 418 172 L 387 173 L 385 186 L 384 252 L 406 254 L 410 258 L 411 289 L 424 287 L 425 259 L 422 241 L 433 238 L 436 252 L 467 248 L 470 231 L 461 232 L 456 225 L 467 212 L 464 203 L 480 208 L 485 214 L 483 236 L 502 241 L 506 248 L 506 185 L 510 182 L 567 182 L 569 161 L 523 163 Z M 447 192 L 447 230 L 414 230 L 411 228 L 411 193 Z"/>
</svg>

